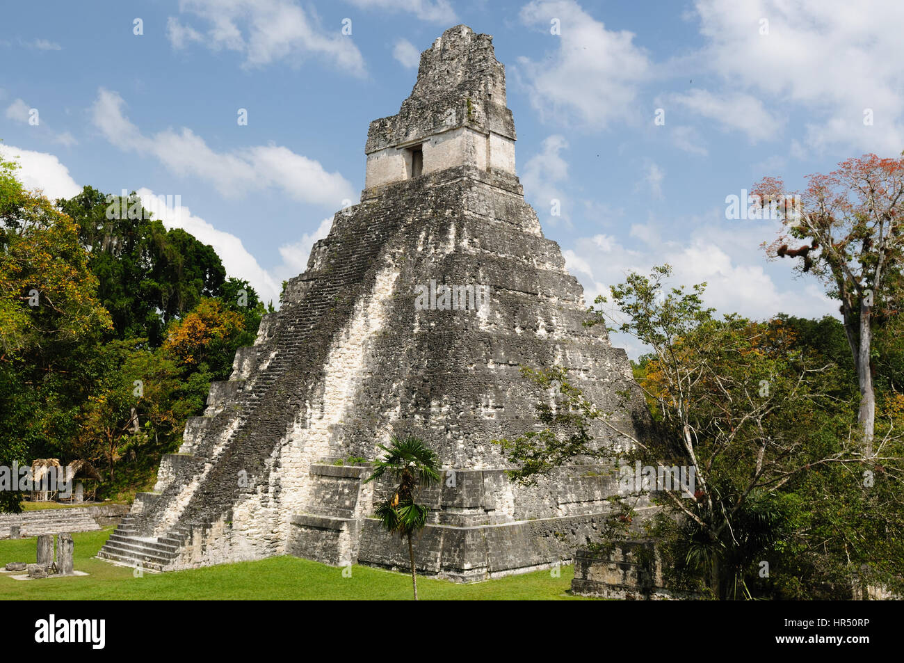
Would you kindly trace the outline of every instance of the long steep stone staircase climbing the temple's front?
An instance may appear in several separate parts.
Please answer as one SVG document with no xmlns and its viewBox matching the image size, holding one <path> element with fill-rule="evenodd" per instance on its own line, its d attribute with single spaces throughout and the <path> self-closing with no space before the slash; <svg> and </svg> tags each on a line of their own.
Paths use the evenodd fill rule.
<svg viewBox="0 0 904 663">
<path fill-rule="evenodd" d="M 230 379 L 212 383 L 202 416 L 186 421 L 179 452 L 161 460 L 154 492 L 137 495 L 100 558 L 153 570 L 194 564 L 184 553 L 204 555 L 211 526 L 231 527 L 231 507 L 267 486 L 272 451 L 296 413 L 319 397 L 334 338 L 384 268 L 375 263 L 397 224 L 391 200 L 365 206 L 364 220 L 376 214 L 377 221 L 358 218 L 362 205 L 336 214 L 308 270 L 290 279 L 282 308 L 261 319 L 254 346 L 236 352 Z M 325 451 L 313 446 L 311 461 Z M 237 482 L 243 474 L 247 487 Z M 274 551 L 285 546 L 285 535 L 272 538 Z"/>
</svg>

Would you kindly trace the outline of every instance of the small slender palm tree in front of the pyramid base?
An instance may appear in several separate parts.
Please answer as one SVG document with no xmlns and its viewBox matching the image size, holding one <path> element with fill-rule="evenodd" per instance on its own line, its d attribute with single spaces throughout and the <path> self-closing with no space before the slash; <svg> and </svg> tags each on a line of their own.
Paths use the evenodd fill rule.
<svg viewBox="0 0 904 663">
<path fill-rule="evenodd" d="M 414 586 L 414 600 L 418 600 L 418 578 L 414 571 L 414 546 L 411 534 L 427 524 L 429 508 L 414 501 L 414 491 L 419 486 L 430 486 L 439 480 L 439 458 L 415 435 L 399 438 L 393 435 L 390 446 L 378 444 L 386 455 L 373 465 L 373 474 L 364 483 L 384 474 L 389 474 L 399 482 L 395 494 L 387 497 L 374 508 L 374 515 L 390 534 L 399 533 L 408 537 L 408 556 L 411 561 L 411 584 Z"/>
</svg>

